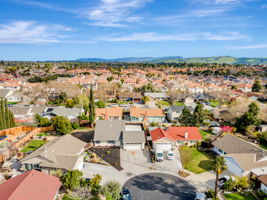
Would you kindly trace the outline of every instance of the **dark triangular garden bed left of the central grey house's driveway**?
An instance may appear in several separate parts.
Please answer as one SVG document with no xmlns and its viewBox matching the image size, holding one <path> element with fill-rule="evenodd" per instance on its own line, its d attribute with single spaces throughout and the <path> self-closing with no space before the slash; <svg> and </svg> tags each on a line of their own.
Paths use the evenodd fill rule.
<svg viewBox="0 0 267 200">
<path fill-rule="evenodd" d="M 117 147 L 94 147 L 89 149 L 95 153 L 98 157 L 109 163 L 117 170 L 122 170 L 120 160 L 120 148 Z"/>
</svg>

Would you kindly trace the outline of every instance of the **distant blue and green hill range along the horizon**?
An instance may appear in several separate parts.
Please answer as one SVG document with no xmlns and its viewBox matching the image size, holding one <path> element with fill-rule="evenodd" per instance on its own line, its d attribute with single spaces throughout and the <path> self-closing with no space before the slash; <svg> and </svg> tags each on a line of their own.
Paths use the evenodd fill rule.
<svg viewBox="0 0 267 200">
<path fill-rule="evenodd" d="M 115 59 L 102 59 L 102 58 L 80 58 L 77 62 L 128 62 L 128 63 L 218 63 L 218 64 L 267 64 L 266 58 L 236 58 L 231 56 L 217 56 L 217 57 L 192 57 L 183 58 L 181 56 L 169 57 L 127 57 Z"/>
</svg>

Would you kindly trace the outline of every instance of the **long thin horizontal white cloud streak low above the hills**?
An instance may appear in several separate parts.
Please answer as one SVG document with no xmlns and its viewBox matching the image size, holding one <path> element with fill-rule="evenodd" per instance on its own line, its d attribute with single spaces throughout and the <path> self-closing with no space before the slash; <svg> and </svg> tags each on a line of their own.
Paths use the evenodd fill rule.
<svg viewBox="0 0 267 200">
<path fill-rule="evenodd" d="M 196 40 L 241 40 L 247 36 L 237 32 L 214 34 L 210 32 L 185 33 L 185 34 L 158 34 L 154 32 L 133 33 L 125 36 L 106 36 L 99 37 L 98 41 L 109 42 L 127 42 L 127 41 L 142 41 L 142 42 L 159 42 L 159 41 L 196 41 Z"/>
</svg>

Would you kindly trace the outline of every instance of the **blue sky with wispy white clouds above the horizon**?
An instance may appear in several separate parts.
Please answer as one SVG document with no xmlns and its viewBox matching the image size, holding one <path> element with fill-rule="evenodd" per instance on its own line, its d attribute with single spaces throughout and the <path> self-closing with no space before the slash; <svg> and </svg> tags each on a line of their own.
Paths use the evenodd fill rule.
<svg viewBox="0 0 267 200">
<path fill-rule="evenodd" d="M 1 60 L 267 57 L 267 0 L 0 0 Z"/>
</svg>

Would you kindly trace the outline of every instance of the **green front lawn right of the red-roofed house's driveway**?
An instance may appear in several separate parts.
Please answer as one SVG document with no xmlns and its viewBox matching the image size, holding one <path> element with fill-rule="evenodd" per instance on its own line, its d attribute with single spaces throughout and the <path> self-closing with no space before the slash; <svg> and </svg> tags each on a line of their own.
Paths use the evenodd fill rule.
<svg viewBox="0 0 267 200">
<path fill-rule="evenodd" d="M 195 174 L 213 170 L 213 158 L 196 148 L 181 147 L 180 154 L 183 167 Z"/>
</svg>

